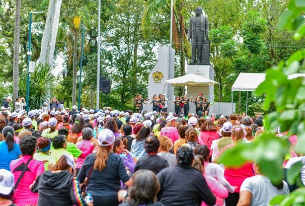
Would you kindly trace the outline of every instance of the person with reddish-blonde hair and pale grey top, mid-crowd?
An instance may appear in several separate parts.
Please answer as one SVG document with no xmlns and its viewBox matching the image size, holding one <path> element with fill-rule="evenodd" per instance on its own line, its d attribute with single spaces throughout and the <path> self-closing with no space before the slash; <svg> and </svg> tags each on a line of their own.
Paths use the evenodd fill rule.
<svg viewBox="0 0 305 206">
<path fill-rule="evenodd" d="M 176 157 L 174 154 L 169 152 L 173 147 L 172 141 L 166 136 L 160 136 L 159 141 L 160 141 L 160 146 L 157 155 L 166 159 L 169 166 L 175 166 Z"/>
</svg>

